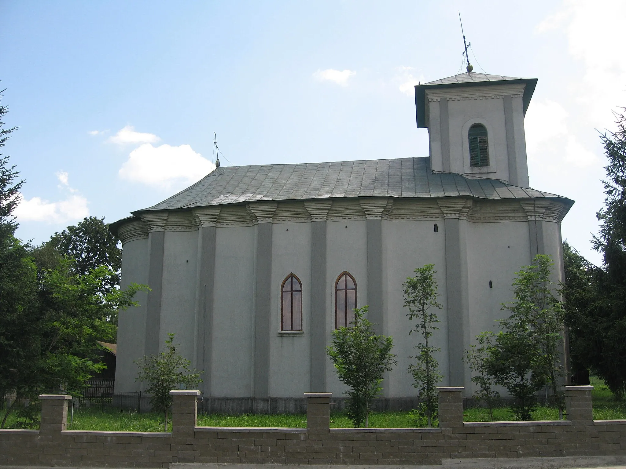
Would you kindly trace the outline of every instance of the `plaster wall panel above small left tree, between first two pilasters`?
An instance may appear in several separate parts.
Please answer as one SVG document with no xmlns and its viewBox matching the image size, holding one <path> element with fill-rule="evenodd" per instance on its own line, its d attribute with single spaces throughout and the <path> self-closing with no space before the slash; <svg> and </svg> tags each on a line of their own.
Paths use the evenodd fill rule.
<svg viewBox="0 0 626 469">
<path fill-rule="evenodd" d="M 177 351 L 188 360 L 195 351 L 197 261 L 197 229 L 165 232 L 159 350 L 167 334 L 175 333 Z"/>
</svg>

